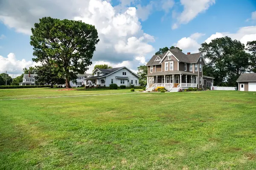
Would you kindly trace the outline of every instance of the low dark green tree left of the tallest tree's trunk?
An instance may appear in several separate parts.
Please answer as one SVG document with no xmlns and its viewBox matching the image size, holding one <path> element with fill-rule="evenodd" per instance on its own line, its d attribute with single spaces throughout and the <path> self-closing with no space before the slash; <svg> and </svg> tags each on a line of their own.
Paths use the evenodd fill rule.
<svg viewBox="0 0 256 170">
<path fill-rule="evenodd" d="M 42 65 L 36 66 L 35 74 L 35 83 L 39 85 L 51 85 L 53 87 L 54 84 L 62 85 L 65 83 L 65 78 L 58 76 L 57 72 L 54 72 L 55 69 L 52 65 Z"/>
</svg>

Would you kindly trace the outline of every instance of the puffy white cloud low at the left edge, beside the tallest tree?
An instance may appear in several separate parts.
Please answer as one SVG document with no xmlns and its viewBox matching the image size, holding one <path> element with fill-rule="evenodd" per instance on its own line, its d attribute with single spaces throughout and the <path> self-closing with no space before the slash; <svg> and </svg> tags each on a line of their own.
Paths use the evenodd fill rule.
<svg viewBox="0 0 256 170">
<path fill-rule="evenodd" d="M 8 54 L 7 58 L 0 56 L 0 73 L 7 71 L 9 74 L 21 74 L 23 68 L 40 65 L 25 59 L 17 60 L 14 53 Z"/>
</svg>

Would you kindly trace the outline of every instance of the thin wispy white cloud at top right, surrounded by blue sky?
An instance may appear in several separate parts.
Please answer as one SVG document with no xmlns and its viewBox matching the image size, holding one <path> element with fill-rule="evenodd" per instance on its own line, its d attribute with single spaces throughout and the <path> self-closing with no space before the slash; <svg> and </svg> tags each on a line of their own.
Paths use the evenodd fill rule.
<svg viewBox="0 0 256 170">
<path fill-rule="evenodd" d="M 187 24 L 193 20 L 198 14 L 206 11 L 211 5 L 215 4 L 215 0 L 180 0 L 184 10 L 177 17 L 177 23 L 172 29 L 178 28 L 180 24 Z"/>
</svg>

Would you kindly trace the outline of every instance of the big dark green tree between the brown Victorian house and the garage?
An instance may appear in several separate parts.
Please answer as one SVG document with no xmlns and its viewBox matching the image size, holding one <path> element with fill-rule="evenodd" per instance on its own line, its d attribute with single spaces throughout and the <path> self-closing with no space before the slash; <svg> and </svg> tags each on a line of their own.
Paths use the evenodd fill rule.
<svg viewBox="0 0 256 170">
<path fill-rule="evenodd" d="M 213 69 L 208 70 L 208 74 L 213 71 L 215 85 L 235 86 L 236 79 L 249 66 L 250 54 L 245 52 L 244 44 L 230 37 L 216 38 L 209 44 L 204 42 L 199 51 L 209 59 L 207 67 Z"/>
</svg>

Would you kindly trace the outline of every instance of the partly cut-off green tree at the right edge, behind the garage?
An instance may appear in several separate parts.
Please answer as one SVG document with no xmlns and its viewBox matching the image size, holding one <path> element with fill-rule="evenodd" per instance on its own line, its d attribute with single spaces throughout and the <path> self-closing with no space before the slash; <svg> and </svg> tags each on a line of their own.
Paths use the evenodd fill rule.
<svg viewBox="0 0 256 170">
<path fill-rule="evenodd" d="M 256 73 L 256 41 L 247 42 L 247 50 L 250 51 L 250 71 Z"/>
</svg>

